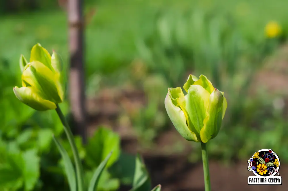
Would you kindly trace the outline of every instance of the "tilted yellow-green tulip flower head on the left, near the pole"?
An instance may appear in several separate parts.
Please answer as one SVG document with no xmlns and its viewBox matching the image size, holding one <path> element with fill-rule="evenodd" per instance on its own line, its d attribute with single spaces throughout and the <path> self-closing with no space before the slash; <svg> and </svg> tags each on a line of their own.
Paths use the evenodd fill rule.
<svg viewBox="0 0 288 191">
<path fill-rule="evenodd" d="M 22 86 L 13 88 L 16 97 L 39 111 L 56 109 L 64 97 L 62 84 L 62 59 L 53 51 L 52 56 L 40 44 L 33 46 L 30 62 L 20 57 Z"/>
</svg>

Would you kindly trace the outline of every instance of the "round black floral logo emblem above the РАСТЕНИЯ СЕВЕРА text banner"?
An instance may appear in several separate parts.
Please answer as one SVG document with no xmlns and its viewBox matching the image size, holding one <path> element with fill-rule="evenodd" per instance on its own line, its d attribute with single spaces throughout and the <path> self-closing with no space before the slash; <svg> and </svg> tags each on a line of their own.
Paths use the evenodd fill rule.
<svg viewBox="0 0 288 191">
<path fill-rule="evenodd" d="M 280 160 L 278 155 L 272 149 L 261 149 L 254 153 L 248 160 L 248 170 L 256 176 L 266 177 L 278 174 Z"/>
</svg>

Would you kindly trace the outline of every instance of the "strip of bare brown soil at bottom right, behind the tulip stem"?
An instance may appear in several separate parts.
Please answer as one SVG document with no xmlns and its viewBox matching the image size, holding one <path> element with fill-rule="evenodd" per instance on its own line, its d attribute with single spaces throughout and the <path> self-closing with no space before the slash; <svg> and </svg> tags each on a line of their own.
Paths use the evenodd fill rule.
<svg viewBox="0 0 288 191">
<path fill-rule="evenodd" d="M 153 159 L 154 161 L 157 161 Z M 177 165 L 177 162 L 158 160 L 158 165 L 153 164 L 152 159 L 146 160 L 153 186 L 162 185 L 161 191 L 204 191 L 203 166 L 201 163 L 182 163 L 176 171 L 169 171 L 169 166 Z M 151 163 L 150 163 L 150 162 Z M 246 162 L 246 161 L 245 161 Z M 218 162 L 210 162 L 210 177 L 212 191 L 285 191 L 287 189 L 288 165 L 281 166 L 279 171 L 283 184 L 281 186 L 251 186 L 248 185 L 248 177 L 253 173 L 247 170 L 247 162 L 234 164 L 230 167 Z"/>
</svg>

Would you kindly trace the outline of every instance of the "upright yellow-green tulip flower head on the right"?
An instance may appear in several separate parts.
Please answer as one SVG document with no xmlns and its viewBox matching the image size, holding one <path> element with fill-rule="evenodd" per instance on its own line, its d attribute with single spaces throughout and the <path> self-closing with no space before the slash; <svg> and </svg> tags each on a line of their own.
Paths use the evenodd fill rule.
<svg viewBox="0 0 288 191">
<path fill-rule="evenodd" d="M 227 108 L 224 93 L 213 87 L 206 76 L 189 75 L 183 89 L 168 88 L 165 108 L 173 125 L 188 141 L 203 143 L 216 137 Z"/>
</svg>

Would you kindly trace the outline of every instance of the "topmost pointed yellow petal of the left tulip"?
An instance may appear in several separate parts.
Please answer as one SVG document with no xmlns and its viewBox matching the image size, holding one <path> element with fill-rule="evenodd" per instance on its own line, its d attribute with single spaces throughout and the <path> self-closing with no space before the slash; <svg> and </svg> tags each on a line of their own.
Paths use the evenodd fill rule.
<svg viewBox="0 0 288 191">
<path fill-rule="evenodd" d="M 51 71 L 54 71 L 51 65 L 51 56 L 49 52 L 39 43 L 33 46 L 31 50 L 30 62 L 33 61 L 39 61 L 51 69 Z"/>
</svg>

